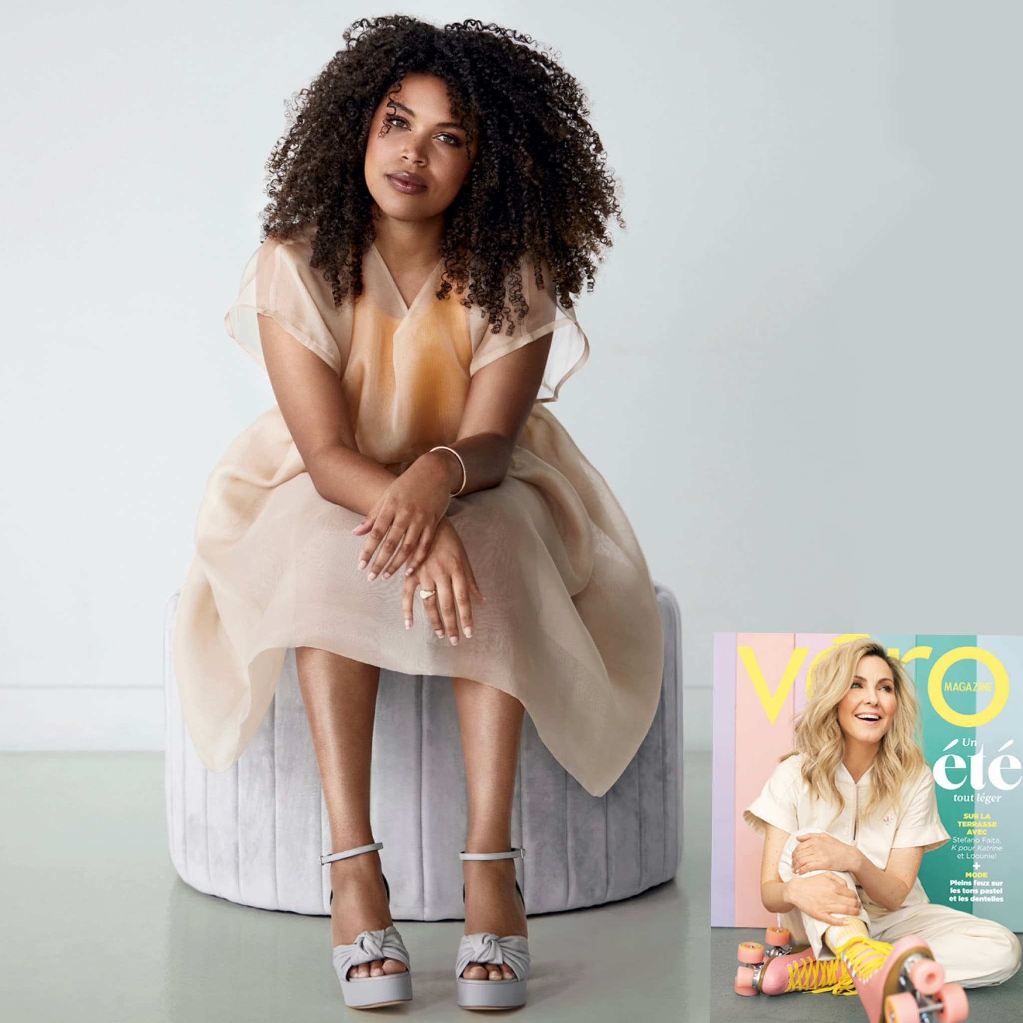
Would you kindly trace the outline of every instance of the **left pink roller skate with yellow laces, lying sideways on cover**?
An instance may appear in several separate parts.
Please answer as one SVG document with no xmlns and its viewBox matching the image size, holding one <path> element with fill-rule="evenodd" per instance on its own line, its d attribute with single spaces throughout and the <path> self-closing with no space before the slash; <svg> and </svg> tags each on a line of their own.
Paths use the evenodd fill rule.
<svg viewBox="0 0 1023 1023">
<path fill-rule="evenodd" d="M 841 960 L 818 960 L 805 945 L 795 948 L 787 928 L 769 927 L 764 944 L 744 941 L 739 946 L 737 994 L 787 994 L 789 991 L 831 991 L 855 994 Z"/>
</svg>

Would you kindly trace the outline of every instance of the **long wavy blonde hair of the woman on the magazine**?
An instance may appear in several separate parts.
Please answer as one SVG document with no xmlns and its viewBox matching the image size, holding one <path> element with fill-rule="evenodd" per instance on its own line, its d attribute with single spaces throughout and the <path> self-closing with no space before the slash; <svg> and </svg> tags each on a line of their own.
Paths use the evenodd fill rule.
<svg viewBox="0 0 1023 1023">
<path fill-rule="evenodd" d="M 831 800 L 838 810 L 845 800 L 835 784 L 845 758 L 845 738 L 838 722 L 838 705 L 852 685 L 859 659 L 880 657 L 891 669 L 898 705 L 888 731 L 881 740 L 871 773 L 871 798 L 860 808 L 869 817 L 879 807 L 894 806 L 903 786 L 916 781 L 926 765 L 920 748 L 920 717 L 917 686 L 901 661 L 891 657 L 877 639 L 850 639 L 828 652 L 813 669 L 813 693 L 796 720 L 796 748 L 781 760 L 803 754 L 802 775 L 817 799 Z M 781 762 L 780 760 L 780 762 Z"/>
</svg>

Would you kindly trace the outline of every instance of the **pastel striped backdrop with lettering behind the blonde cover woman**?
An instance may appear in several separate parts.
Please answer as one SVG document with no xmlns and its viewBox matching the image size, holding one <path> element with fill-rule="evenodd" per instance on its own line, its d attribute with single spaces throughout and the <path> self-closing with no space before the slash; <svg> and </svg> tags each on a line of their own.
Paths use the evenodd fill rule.
<svg viewBox="0 0 1023 1023">
<path fill-rule="evenodd" d="M 714 636 L 711 926 L 770 927 L 760 901 L 762 840 L 742 819 L 835 644 L 870 635 L 897 657 L 920 700 L 924 756 L 951 841 L 924 855 L 928 898 L 1023 930 L 1023 636 L 718 632 Z"/>
</svg>

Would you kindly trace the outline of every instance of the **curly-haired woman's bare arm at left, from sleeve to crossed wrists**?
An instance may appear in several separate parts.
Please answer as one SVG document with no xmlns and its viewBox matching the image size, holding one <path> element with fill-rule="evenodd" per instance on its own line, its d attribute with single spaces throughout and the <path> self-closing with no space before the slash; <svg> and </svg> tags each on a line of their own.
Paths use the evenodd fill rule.
<svg viewBox="0 0 1023 1023">
<path fill-rule="evenodd" d="M 270 386 L 313 486 L 328 501 L 367 515 L 396 476 L 357 450 L 345 392 L 333 369 L 276 320 L 262 313 L 258 320 Z M 430 468 L 436 465 L 438 489 L 447 493 L 451 466 L 442 452 L 428 461 Z"/>
</svg>

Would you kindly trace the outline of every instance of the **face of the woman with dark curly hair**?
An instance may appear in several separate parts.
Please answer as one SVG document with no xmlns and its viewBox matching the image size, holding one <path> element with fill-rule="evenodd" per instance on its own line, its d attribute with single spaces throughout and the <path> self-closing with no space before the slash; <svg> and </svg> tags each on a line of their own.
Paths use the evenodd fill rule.
<svg viewBox="0 0 1023 1023">
<path fill-rule="evenodd" d="M 447 86 L 432 75 L 406 75 L 399 91 L 381 100 L 369 126 L 364 171 L 369 194 L 386 216 L 429 220 L 451 205 L 478 146 L 474 131 L 466 159 L 465 131 L 457 120 Z M 413 183 L 417 178 L 421 185 L 403 188 L 396 175 L 411 176 Z"/>
</svg>

